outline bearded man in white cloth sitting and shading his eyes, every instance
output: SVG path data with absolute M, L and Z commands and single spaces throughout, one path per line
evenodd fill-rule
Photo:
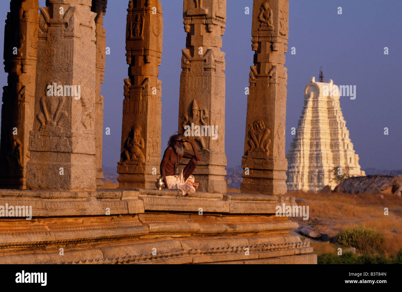
M 184 151 L 183 143 L 190 143 L 193 148 L 194 155 Z M 178 165 L 182 157 L 189 158 L 189 163 L 183 168 L 181 173 L 178 172 Z M 198 188 L 198 184 L 194 182 L 193 173 L 197 167 L 197 161 L 201 159 L 194 142 L 181 135 L 172 135 L 169 138 L 168 147 L 163 153 L 160 163 L 160 174 L 163 176 L 165 188 L 179 189 L 182 195 L 192 195 Z

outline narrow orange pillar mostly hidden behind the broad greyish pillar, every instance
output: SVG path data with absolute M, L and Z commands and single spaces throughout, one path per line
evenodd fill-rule
M 100 95 L 103 76 L 105 76 L 106 34 L 103 28 L 103 15 L 107 0 L 92 0 L 91 11 L 96 13 L 96 86 L 95 86 L 95 134 L 96 134 L 96 187 L 103 186 L 102 141 L 103 141 L 103 95 Z

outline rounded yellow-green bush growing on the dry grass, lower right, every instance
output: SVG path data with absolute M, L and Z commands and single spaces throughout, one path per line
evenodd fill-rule
M 374 228 L 353 226 L 341 231 L 335 237 L 335 242 L 344 247 L 356 247 L 363 253 L 375 253 L 382 251 L 383 235 Z

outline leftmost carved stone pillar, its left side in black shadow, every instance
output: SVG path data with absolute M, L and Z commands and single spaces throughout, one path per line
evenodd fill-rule
M 38 0 L 10 2 L 4 32 L 0 188 L 26 188 L 29 131 L 35 104 Z

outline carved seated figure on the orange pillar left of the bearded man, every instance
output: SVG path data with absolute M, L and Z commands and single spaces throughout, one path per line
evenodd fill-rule
M 122 161 L 144 162 L 145 157 L 141 149 L 144 149 L 144 139 L 141 137 L 141 126 L 134 125 L 124 142 L 124 149 L 121 153 Z

